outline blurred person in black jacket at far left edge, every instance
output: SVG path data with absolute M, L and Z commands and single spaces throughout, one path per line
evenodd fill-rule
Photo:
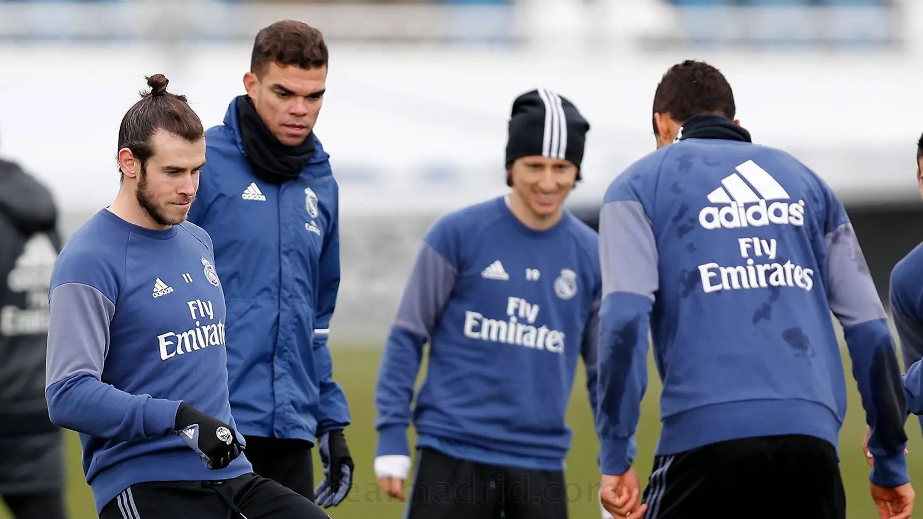
M 57 215 L 47 187 L 0 160 L 0 496 L 17 519 L 66 517 L 63 435 L 44 391 Z

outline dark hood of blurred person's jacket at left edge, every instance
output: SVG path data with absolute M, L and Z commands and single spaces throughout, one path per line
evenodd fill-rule
M 23 232 L 54 230 L 57 207 L 51 192 L 15 162 L 0 159 L 0 213 Z

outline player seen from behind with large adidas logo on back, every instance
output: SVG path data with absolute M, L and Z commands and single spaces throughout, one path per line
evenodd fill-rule
M 605 508 L 617 518 L 844 518 L 837 438 L 846 393 L 833 312 L 871 428 L 872 496 L 907 517 L 905 395 L 849 218 L 821 177 L 753 144 L 734 117 L 717 69 L 674 65 L 654 94 L 658 149 L 605 193 Z M 663 427 L 641 496 L 632 435 L 649 331 Z

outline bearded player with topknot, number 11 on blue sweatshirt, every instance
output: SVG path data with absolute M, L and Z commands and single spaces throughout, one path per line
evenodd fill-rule
M 119 128 L 118 195 L 54 265 L 49 415 L 80 433 L 102 519 L 329 518 L 241 453 L 224 346 L 234 317 L 208 233 L 185 221 L 202 124 L 166 77 L 148 85 Z

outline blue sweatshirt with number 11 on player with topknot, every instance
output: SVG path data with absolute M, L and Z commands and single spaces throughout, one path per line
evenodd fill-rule
M 97 513 L 135 483 L 252 470 L 243 454 L 210 470 L 173 434 L 181 401 L 236 430 L 224 297 L 204 230 L 146 229 L 102 209 L 66 242 L 49 305 L 48 412 L 80 433 Z

